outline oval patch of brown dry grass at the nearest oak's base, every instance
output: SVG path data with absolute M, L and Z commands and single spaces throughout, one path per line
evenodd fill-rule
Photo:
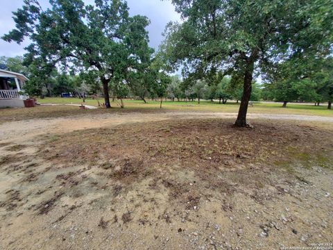
M 321 151 L 332 131 L 300 124 L 257 122 L 255 128 L 234 128 L 232 121 L 188 119 L 97 128 L 62 134 L 46 143 L 45 156 L 59 163 L 121 166 L 115 176 L 130 176 L 147 163 L 217 165 L 267 162 L 288 154 Z M 311 143 L 307 143 L 311 142 Z M 293 149 L 293 150 L 291 150 Z M 304 156 L 304 154 L 303 154 Z M 105 160 L 103 163 L 98 163 Z M 203 167 L 200 167 L 201 169 Z

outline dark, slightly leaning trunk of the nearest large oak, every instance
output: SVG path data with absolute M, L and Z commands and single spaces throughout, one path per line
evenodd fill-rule
M 252 92 L 254 65 L 255 61 L 253 60 L 253 58 L 248 58 L 246 69 L 244 72 L 243 96 L 241 97 L 241 105 L 239 106 L 236 122 L 234 122 L 235 126 L 248 126 L 248 123 L 246 122 L 246 114 L 248 113 L 248 101 L 250 101 L 250 95 Z

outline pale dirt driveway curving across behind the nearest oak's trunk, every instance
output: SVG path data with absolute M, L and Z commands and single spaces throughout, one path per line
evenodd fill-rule
M 232 118 L 236 113 L 194 113 L 194 112 L 167 112 L 167 113 L 114 113 L 99 115 L 80 115 L 65 118 L 31 119 L 0 124 L 0 140 L 5 142 L 26 141 L 31 136 L 46 133 L 68 133 L 79 129 L 101 128 L 105 126 L 118 126 L 121 124 L 137 122 L 157 122 L 172 119 L 193 118 Z M 305 115 L 271 115 L 250 114 L 248 119 L 293 120 L 307 122 L 333 123 L 333 117 L 318 117 Z

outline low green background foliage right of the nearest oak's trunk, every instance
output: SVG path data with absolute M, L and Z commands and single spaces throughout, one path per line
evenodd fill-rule
M 266 75 L 266 99 L 283 101 L 328 101 L 332 103 L 332 56 L 291 58 Z

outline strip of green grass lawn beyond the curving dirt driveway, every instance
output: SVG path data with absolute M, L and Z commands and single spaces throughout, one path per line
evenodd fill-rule
M 98 99 L 103 103 L 103 99 Z M 40 103 L 55 103 L 55 104 L 81 104 L 82 99 L 78 98 L 60 98 L 60 97 L 46 97 L 45 99 L 37 99 Z M 125 108 L 135 109 L 159 109 L 160 101 L 150 101 L 147 103 L 137 100 L 125 100 Z M 98 106 L 97 99 L 86 99 L 85 105 Z M 119 102 L 111 102 L 113 108 L 119 108 Z M 219 104 L 219 102 L 200 101 L 163 101 L 162 108 L 167 110 L 177 111 L 200 111 L 200 112 L 223 112 L 223 113 L 237 113 L 239 103 L 229 102 L 226 104 Z M 333 117 L 333 110 L 327 110 L 327 106 L 314 106 L 314 104 L 299 104 L 288 103 L 287 108 L 282 108 L 282 103 L 254 103 L 253 107 L 248 108 L 248 113 L 267 113 L 267 114 L 280 114 L 280 115 L 320 115 Z

